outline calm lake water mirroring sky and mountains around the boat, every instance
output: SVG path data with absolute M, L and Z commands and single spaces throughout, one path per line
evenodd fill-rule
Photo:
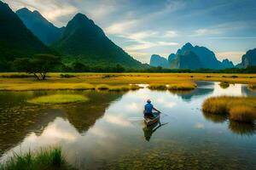
M 47 94 L 84 94 L 72 105 L 32 105 Z M 186 94 L 142 88 L 127 93 L 0 92 L 0 156 L 61 145 L 80 169 L 256 169 L 256 127 L 201 112 L 210 96 L 256 95 L 245 85 L 198 82 Z M 143 105 L 163 112 L 145 127 Z

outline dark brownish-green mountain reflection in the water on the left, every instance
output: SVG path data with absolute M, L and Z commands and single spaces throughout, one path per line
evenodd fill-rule
M 49 106 L 26 103 L 27 99 L 52 93 L 54 92 L 2 92 L 0 94 L 0 155 L 19 144 L 29 133 L 39 136 L 56 117 L 67 118 L 79 133 L 82 133 L 104 114 L 112 101 L 123 95 L 122 93 L 85 92 L 85 95 L 90 97 L 90 101 L 78 105 Z

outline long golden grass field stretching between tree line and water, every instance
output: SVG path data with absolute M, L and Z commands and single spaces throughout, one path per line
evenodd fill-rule
M 68 73 L 74 77 L 62 78 L 62 73 L 49 73 L 46 81 L 33 77 L 15 78 L 25 73 L 0 73 L 0 90 L 83 90 L 97 85 L 125 86 L 129 84 L 190 84 L 194 81 L 245 83 L 255 87 L 256 74 L 206 73 Z

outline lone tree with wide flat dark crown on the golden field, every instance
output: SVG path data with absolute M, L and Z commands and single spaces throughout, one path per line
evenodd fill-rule
M 46 74 L 61 65 L 61 58 L 51 54 L 38 54 L 31 59 L 15 59 L 14 67 L 17 71 L 33 74 L 38 80 L 45 80 Z

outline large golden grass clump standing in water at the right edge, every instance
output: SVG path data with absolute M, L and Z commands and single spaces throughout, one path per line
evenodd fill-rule
M 256 120 L 256 97 L 212 97 L 204 101 L 202 111 L 210 114 L 228 114 L 237 122 Z

